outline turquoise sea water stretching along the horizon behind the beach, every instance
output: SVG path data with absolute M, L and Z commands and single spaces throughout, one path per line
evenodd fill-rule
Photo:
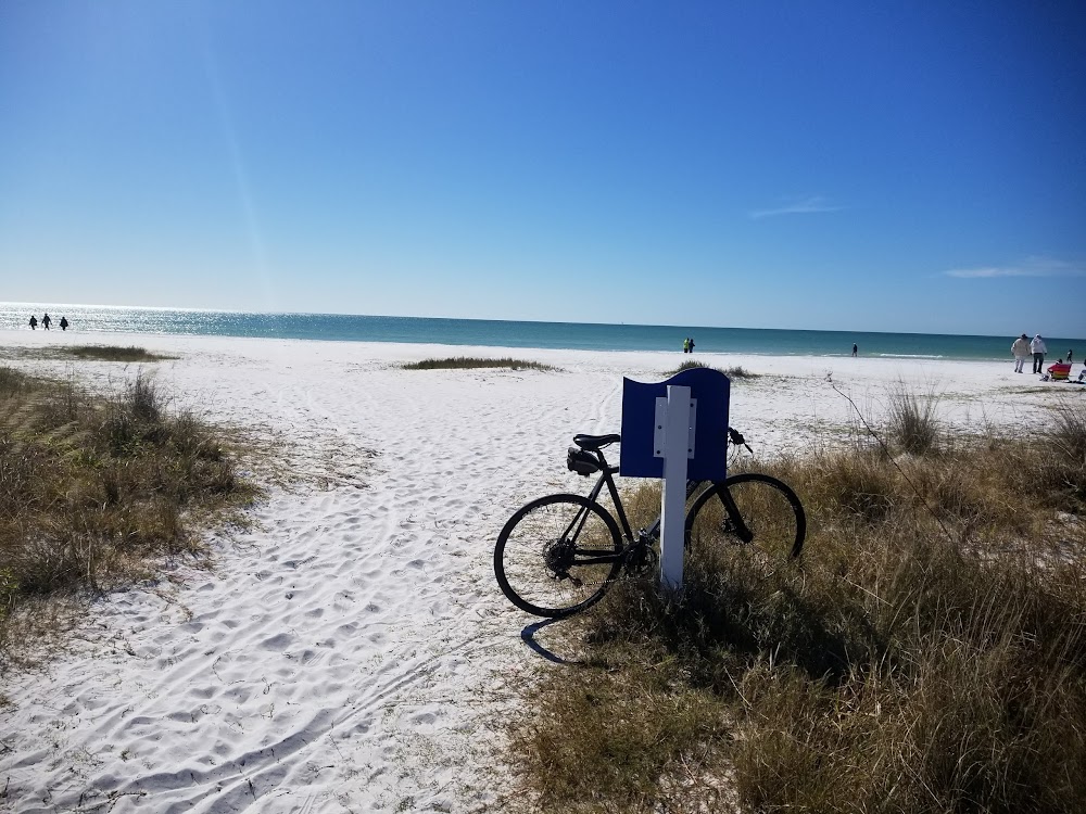
M 48 311 L 53 331 L 67 317 L 70 333 L 179 333 L 346 342 L 408 342 L 492 347 L 548 347 L 585 351 L 677 351 L 693 336 L 695 353 L 771 356 L 848 356 L 853 343 L 861 356 L 936 359 L 1010 358 L 1013 336 L 959 336 L 931 333 L 860 331 L 785 331 L 697 326 L 512 322 L 488 319 L 430 319 L 339 314 L 248 314 L 238 311 L 127 308 L 115 306 L 0 303 L 0 329 L 29 330 L 31 314 Z M 38 330 L 41 330 L 39 327 Z M 1046 338 L 1049 356 L 1075 348 L 1086 357 L 1086 340 Z

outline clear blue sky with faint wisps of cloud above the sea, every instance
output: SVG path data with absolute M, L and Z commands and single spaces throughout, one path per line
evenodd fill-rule
M 1086 4 L 3 0 L 0 300 L 1086 334 Z

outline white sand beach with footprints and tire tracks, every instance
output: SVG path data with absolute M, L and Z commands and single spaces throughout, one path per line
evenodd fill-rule
M 0 332 L 0 347 L 137 344 L 181 407 L 277 440 L 300 479 L 270 486 L 210 568 L 97 601 L 72 647 L 8 675 L 0 798 L 29 812 L 502 811 L 501 715 L 550 663 L 491 565 L 527 499 L 586 489 L 577 432 L 617 432 L 622 377 L 679 353 L 597 353 L 215 336 Z M 407 371 L 427 357 L 513 356 L 555 372 Z M 880 422 L 904 383 L 968 431 L 1032 432 L 1086 387 L 1002 363 L 696 354 L 754 379 L 731 423 L 760 455 L 805 454 Z M 116 387 L 137 366 L 0 358 Z M 1075 366 L 1074 376 L 1078 373 Z M 828 378 L 832 378 L 832 385 Z

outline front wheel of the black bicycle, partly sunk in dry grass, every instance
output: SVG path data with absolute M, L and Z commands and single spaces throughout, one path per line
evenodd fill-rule
M 721 493 L 727 491 L 753 533 L 745 543 Z M 795 559 L 807 538 L 807 512 L 799 497 L 783 481 L 760 472 L 732 475 L 698 495 L 686 514 L 686 545 L 721 539 L 730 545 L 752 545 L 772 559 Z

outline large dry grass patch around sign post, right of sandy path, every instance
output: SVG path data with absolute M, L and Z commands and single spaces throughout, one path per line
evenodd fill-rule
M 1041 437 L 759 469 L 799 560 L 691 543 L 684 587 L 623 578 L 550 631 L 510 724 L 542 811 L 1075 812 L 1086 772 L 1086 406 Z M 649 495 L 645 507 L 655 503 Z

